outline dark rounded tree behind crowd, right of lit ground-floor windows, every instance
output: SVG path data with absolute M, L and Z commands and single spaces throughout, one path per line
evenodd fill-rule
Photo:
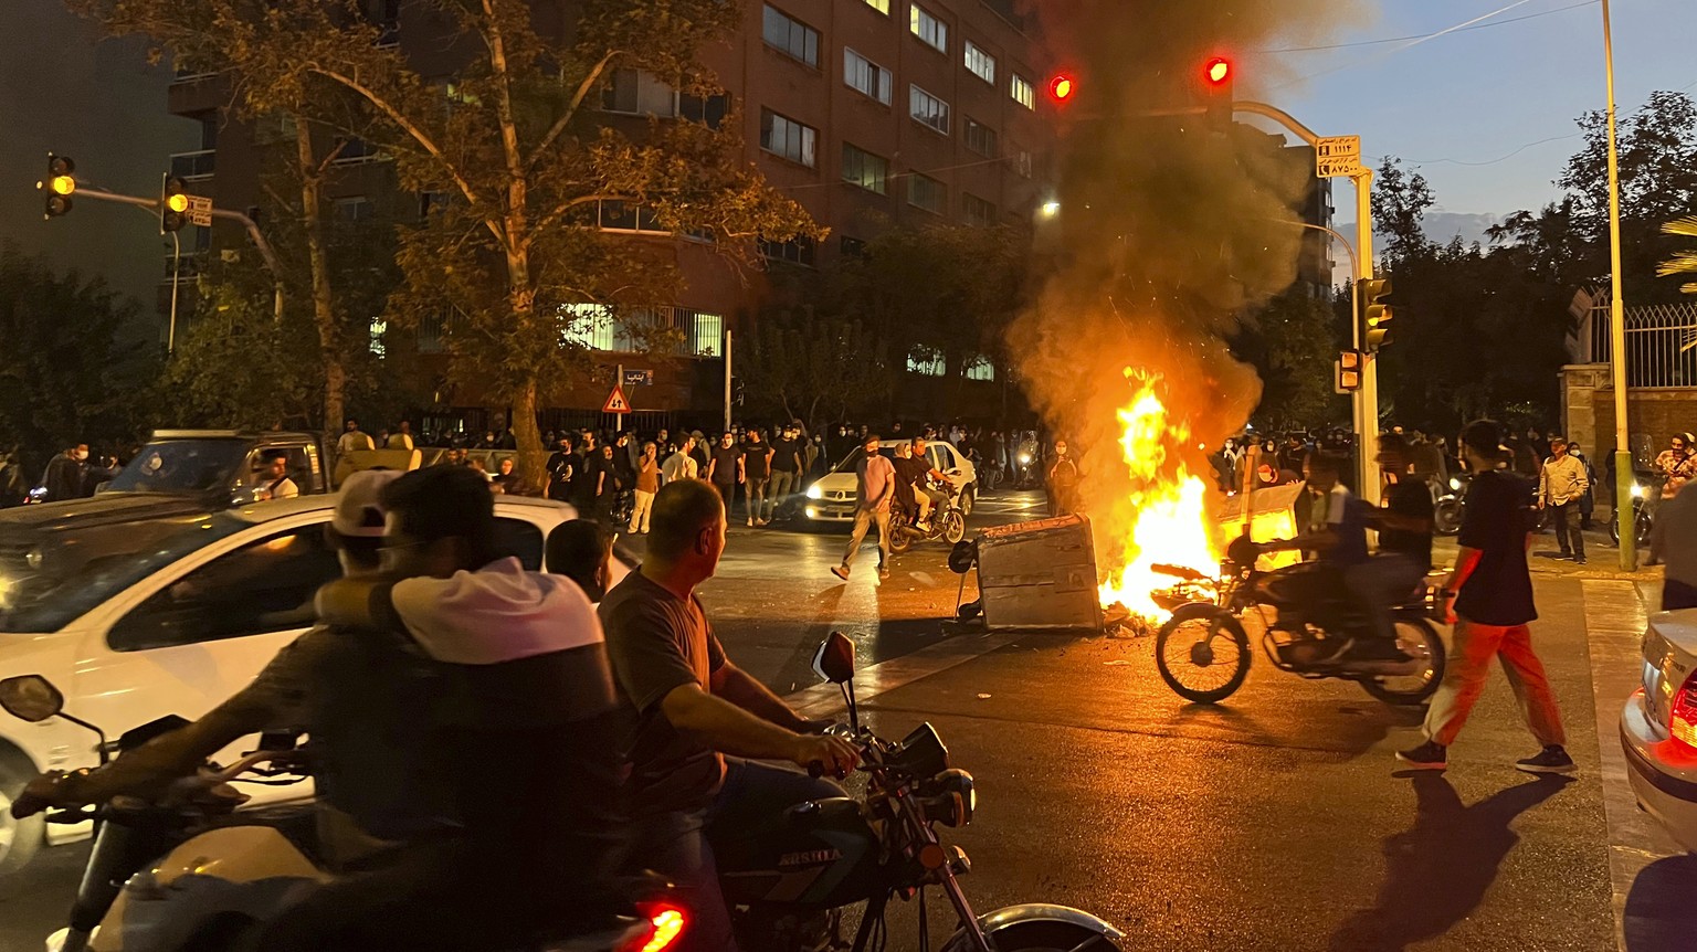
M 782 411 L 784 419 L 821 431 L 889 392 L 884 350 L 860 321 L 767 314 L 736 341 L 735 365 L 755 409 Z

